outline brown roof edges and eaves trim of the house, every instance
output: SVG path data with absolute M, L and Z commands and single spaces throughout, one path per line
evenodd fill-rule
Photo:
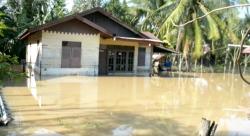
M 139 35 L 141 38 L 116 36 L 116 34 L 113 34 L 112 32 L 108 31 L 107 29 L 101 27 L 100 25 L 97 25 L 96 23 L 94 23 L 94 22 L 92 22 L 84 17 L 86 15 L 89 15 L 89 14 L 92 14 L 95 12 L 101 13 L 102 15 L 108 17 L 109 19 L 113 20 L 114 22 L 121 25 L 122 27 L 130 30 L 131 32 L 135 33 L 136 35 Z M 109 37 L 109 38 L 116 37 L 117 39 L 120 39 L 120 40 L 139 41 L 139 42 L 155 43 L 155 44 L 162 44 L 163 43 L 161 40 L 159 40 L 157 37 L 155 37 L 152 33 L 150 33 L 150 32 L 143 32 L 143 33 L 137 32 L 133 28 L 129 27 L 128 25 L 126 25 L 125 23 L 120 21 L 119 19 L 115 18 L 111 13 L 109 13 L 109 12 L 105 11 L 104 9 L 99 8 L 99 7 L 92 8 L 90 10 L 86 10 L 82 13 L 77 13 L 77 14 L 73 14 L 70 16 L 66 16 L 66 17 L 63 17 L 61 19 L 54 20 L 54 21 L 48 22 L 46 24 L 37 26 L 35 28 L 28 29 L 19 35 L 19 39 L 25 39 L 30 34 L 33 34 L 35 32 L 38 32 L 38 31 L 41 31 L 44 29 L 48 29 L 52 26 L 55 26 L 55 25 L 58 25 L 60 23 L 64 23 L 64 22 L 67 22 L 67 21 L 70 21 L 73 19 L 77 19 L 77 20 L 81 21 L 82 23 L 87 24 L 88 26 L 98 30 L 101 33 L 101 35 L 103 35 L 105 37 Z

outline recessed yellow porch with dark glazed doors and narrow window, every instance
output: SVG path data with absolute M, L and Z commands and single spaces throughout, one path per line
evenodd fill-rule
M 99 75 L 149 75 L 152 46 L 123 39 L 101 39 Z

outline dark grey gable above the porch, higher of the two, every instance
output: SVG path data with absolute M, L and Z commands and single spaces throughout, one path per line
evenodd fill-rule
M 111 15 L 109 15 L 111 16 Z M 87 18 L 91 22 L 105 28 L 109 32 L 116 34 L 116 36 L 120 37 L 134 37 L 134 38 L 142 38 L 139 34 L 129 30 L 128 28 L 122 26 L 111 18 L 107 17 L 103 13 L 99 11 L 83 15 L 84 18 Z

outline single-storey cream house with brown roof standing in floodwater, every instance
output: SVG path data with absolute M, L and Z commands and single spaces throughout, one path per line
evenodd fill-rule
M 40 75 L 148 75 L 163 42 L 93 8 L 21 34 L 26 62 Z

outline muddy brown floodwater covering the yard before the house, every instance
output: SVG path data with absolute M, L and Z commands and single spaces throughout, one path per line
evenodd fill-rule
M 67 76 L 28 86 L 2 90 L 14 120 L 1 136 L 190 136 L 202 117 L 218 123 L 217 135 L 250 135 L 250 88 L 238 75 Z

